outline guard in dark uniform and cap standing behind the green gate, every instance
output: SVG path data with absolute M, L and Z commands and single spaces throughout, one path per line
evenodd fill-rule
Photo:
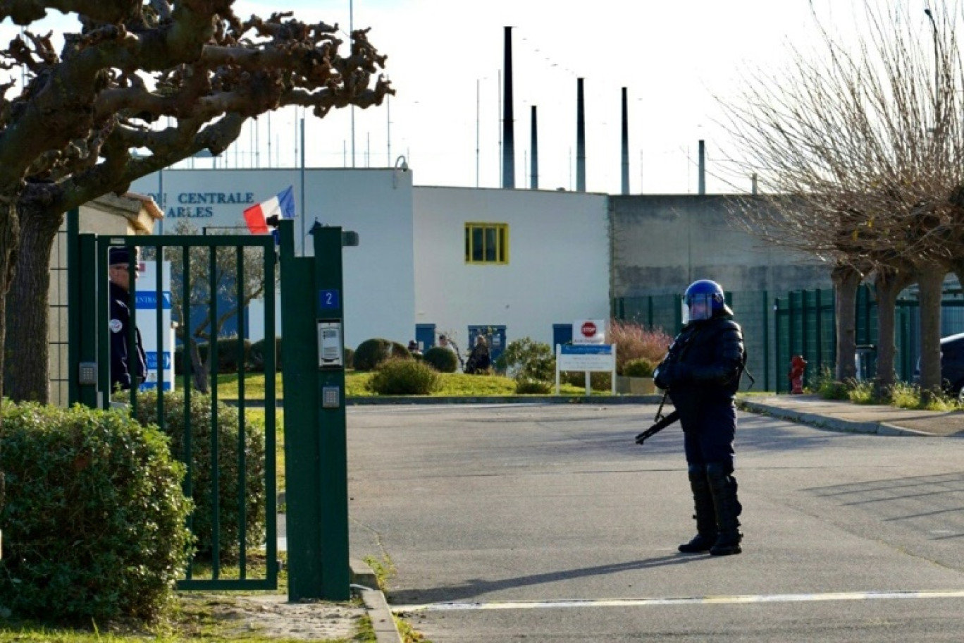
M 147 360 L 141 344 L 141 331 L 134 329 L 137 355 L 127 355 L 127 329 L 130 324 L 128 308 L 130 263 L 137 261 L 137 254 L 130 248 L 111 248 L 108 253 L 109 297 L 111 301 L 111 390 L 140 386 L 147 374 Z M 137 265 L 135 263 L 135 275 Z

